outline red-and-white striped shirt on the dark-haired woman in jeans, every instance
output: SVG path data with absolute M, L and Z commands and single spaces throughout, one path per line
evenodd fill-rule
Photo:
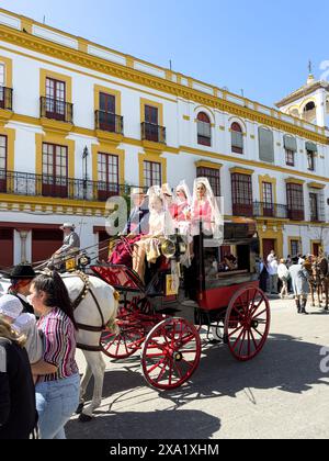
M 38 321 L 37 327 L 44 334 L 44 361 L 58 368 L 56 373 L 39 376 L 37 382 L 59 381 L 77 374 L 76 330 L 70 318 L 56 307 Z

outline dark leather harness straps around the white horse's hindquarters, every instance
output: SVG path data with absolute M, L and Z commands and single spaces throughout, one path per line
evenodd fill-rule
M 78 271 L 75 272 L 75 276 L 79 277 L 79 279 L 82 281 L 83 283 L 83 288 L 81 290 L 81 293 L 79 294 L 79 296 L 77 297 L 77 300 L 72 303 L 72 307 L 73 311 L 76 311 L 79 305 L 82 303 L 82 301 L 86 299 L 86 296 L 88 295 L 88 293 L 92 296 L 97 308 L 99 311 L 101 321 L 102 321 L 102 326 L 100 327 L 93 327 L 90 325 L 83 325 L 83 324 L 77 324 L 77 327 L 79 329 L 81 329 L 82 331 L 90 331 L 90 333 L 102 333 L 104 331 L 104 329 L 106 328 L 106 324 L 104 321 L 104 316 L 100 306 L 100 303 L 98 302 L 97 296 L 94 295 L 93 291 L 90 288 L 90 282 L 89 282 L 89 277 L 86 276 L 86 273 Z M 81 350 L 86 350 L 88 352 L 100 352 L 102 350 L 101 346 L 87 346 L 87 345 L 81 345 L 81 344 L 77 344 L 77 348 L 81 349 Z

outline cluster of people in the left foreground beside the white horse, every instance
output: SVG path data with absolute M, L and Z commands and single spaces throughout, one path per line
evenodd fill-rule
M 9 274 L 0 297 L 0 439 L 65 439 L 79 405 L 77 325 L 57 272 Z

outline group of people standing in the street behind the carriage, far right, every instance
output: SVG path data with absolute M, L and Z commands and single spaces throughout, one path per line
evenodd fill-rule
M 265 293 L 279 294 L 283 300 L 294 295 L 298 314 L 306 314 L 309 281 L 314 263 L 311 255 L 280 259 L 272 250 L 266 260 L 260 260 L 260 288 Z

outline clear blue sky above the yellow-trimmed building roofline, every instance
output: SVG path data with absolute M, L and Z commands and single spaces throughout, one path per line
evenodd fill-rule
M 306 0 L 1 0 L 31 16 L 268 105 L 329 60 L 329 3 Z M 314 5 L 314 8 L 313 8 Z

